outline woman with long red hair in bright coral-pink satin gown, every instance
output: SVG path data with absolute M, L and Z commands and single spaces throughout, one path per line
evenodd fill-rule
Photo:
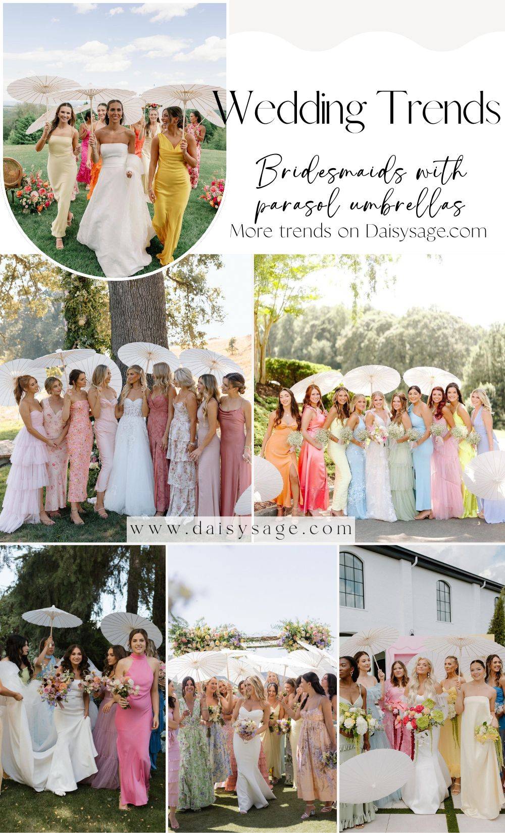
M 330 504 L 324 449 L 318 446 L 313 436 L 317 428 L 323 427 L 326 416 L 321 391 L 317 385 L 309 385 L 303 400 L 301 431 L 304 441 L 298 457 L 300 508 L 306 515 L 319 515 Z

